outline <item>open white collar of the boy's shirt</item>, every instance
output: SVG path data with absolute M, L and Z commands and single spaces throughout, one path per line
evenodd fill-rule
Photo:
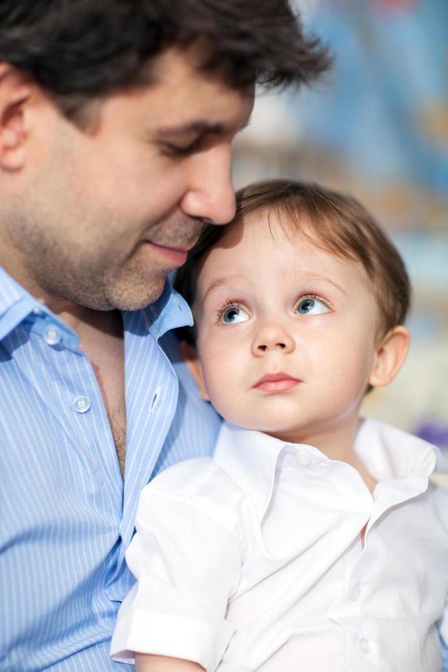
M 279 455 L 286 450 L 298 453 L 304 447 L 311 461 L 328 459 L 313 446 L 288 444 L 224 422 L 214 461 L 249 494 L 262 520 L 271 501 Z M 448 462 L 436 446 L 378 420 L 360 420 L 355 451 L 378 481 L 427 478 L 434 471 L 448 471 Z

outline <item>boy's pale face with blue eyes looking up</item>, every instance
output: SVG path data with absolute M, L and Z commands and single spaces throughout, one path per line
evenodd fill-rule
M 356 422 L 377 382 L 380 315 L 364 267 L 272 213 L 232 224 L 208 252 L 193 311 L 205 394 L 241 427 L 316 444 Z

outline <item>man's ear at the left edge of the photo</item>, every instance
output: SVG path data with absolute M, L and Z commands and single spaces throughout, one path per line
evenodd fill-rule
M 25 73 L 0 63 L 0 169 L 20 170 L 25 162 L 27 123 L 24 108 L 32 93 Z

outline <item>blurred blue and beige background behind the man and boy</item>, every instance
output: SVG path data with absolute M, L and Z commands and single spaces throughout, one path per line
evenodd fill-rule
M 386 228 L 412 282 L 412 344 L 362 410 L 448 453 L 448 2 L 295 4 L 334 67 L 312 91 L 257 96 L 234 184 L 316 180 L 358 197 Z

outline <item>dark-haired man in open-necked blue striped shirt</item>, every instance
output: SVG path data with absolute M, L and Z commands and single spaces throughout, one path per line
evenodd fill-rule
M 1 3 L 1 669 L 119 669 L 138 493 L 218 422 L 166 276 L 234 214 L 253 85 L 327 61 L 286 0 Z

